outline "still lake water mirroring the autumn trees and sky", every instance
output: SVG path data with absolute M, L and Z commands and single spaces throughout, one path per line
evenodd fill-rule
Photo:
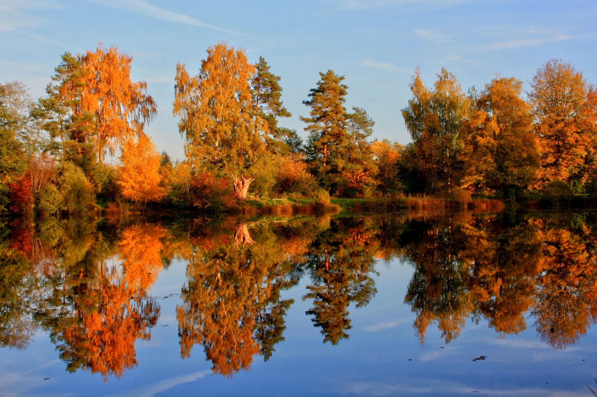
M 0 230 L 1 396 L 597 390 L 593 212 Z

